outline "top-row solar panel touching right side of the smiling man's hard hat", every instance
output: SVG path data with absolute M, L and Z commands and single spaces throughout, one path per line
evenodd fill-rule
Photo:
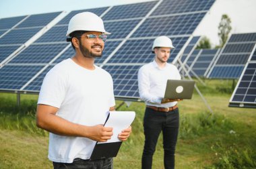
M 158 1 L 146 3 L 134 3 L 129 5 L 115 6 L 106 15 L 103 20 L 126 19 L 135 17 L 145 17 L 147 13 L 156 5 Z

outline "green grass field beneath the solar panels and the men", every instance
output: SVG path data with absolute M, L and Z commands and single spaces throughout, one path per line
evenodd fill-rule
M 176 168 L 256 168 L 256 111 L 231 108 L 230 80 L 205 80 L 201 97 L 181 101 Z M 48 135 L 35 125 L 37 95 L 22 95 L 21 107 L 15 107 L 15 95 L 0 93 L 0 168 L 52 168 L 47 159 Z M 117 101 L 117 105 L 121 101 Z M 141 168 L 143 150 L 144 103 L 123 105 L 120 111 L 135 111 L 133 133 L 124 142 L 114 168 Z M 154 154 L 153 168 L 163 167 L 162 135 Z

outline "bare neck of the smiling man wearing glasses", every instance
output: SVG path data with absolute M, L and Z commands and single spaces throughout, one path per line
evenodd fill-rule
M 72 60 L 78 64 L 79 66 L 82 66 L 83 68 L 86 68 L 88 70 L 94 70 L 94 58 L 86 58 L 84 56 L 77 56 L 75 55 Z

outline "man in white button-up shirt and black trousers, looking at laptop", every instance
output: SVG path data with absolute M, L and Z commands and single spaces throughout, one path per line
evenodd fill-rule
M 141 168 L 152 168 L 152 158 L 160 132 L 164 139 L 164 168 L 174 168 L 174 152 L 179 132 L 179 99 L 164 99 L 168 79 L 181 79 L 179 70 L 168 64 L 172 50 L 172 41 L 166 36 L 154 40 L 152 52 L 153 62 L 142 66 L 138 72 L 139 97 L 146 102 L 143 119 L 145 144 Z

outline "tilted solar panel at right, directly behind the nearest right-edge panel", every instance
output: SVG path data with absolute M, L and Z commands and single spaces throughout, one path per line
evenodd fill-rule
M 253 51 L 256 33 L 232 34 L 207 78 L 238 78 Z

